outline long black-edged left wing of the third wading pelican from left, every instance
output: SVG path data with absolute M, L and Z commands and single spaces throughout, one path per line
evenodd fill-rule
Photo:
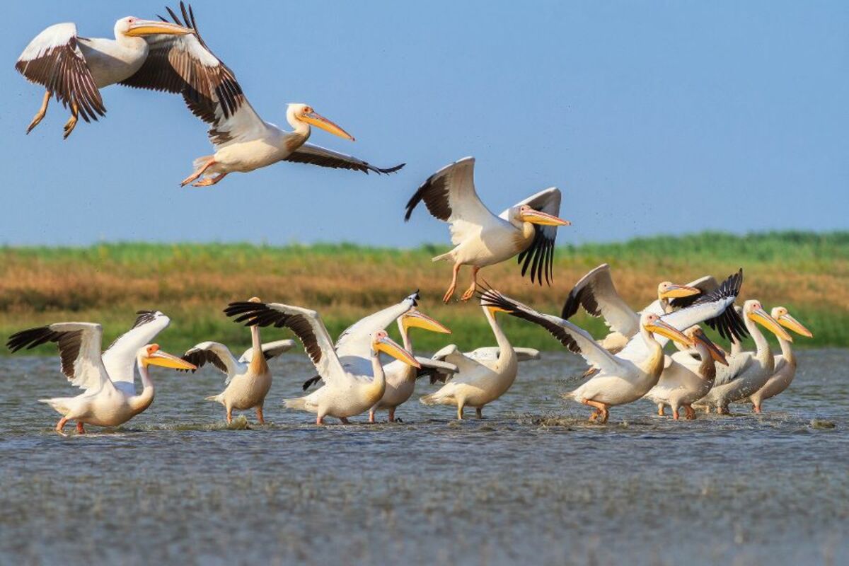
M 289 328 L 301 340 L 306 355 L 310 356 L 318 375 L 327 384 L 346 373 L 336 356 L 333 340 L 316 311 L 282 303 L 243 301 L 230 303 L 224 313 L 234 317 L 235 322 L 245 322 L 245 326 Z

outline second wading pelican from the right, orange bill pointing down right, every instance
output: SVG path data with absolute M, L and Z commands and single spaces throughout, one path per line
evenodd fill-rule
M 717 368 L 717 378 L 713 387 L 698 403 L 705 406 L 706 412 L 711 406 L 717 407 L 717 413 L 728 414 L 728 404 L 742 401 L 767 383 L 773 375 L 775 361 L 773 351 L 763 333 L 757 328 L 760 324 L 780 339 L 792 341 L 790 334 L 763 310 L 760 301 L 747 300 L 743 303 L 743 321 L 745 328 L 755 340 L 756 351 L 740 351 L 728 357 L 728 367 Z M 693 363 L 696 363 L 693 361 Z

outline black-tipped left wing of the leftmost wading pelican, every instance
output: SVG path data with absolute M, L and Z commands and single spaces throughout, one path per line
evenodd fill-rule
M 30 328 L 12 334 L 6 345 L 9 350 L 16 352 L 24 347 L 29 350 L 48 342 L 59 346 L 62 373 L 65 373 L 71 385 L 86 390 L 112 387 L 100 357 L 103 328 L 99 324 L 57 322 L 50 326 Z

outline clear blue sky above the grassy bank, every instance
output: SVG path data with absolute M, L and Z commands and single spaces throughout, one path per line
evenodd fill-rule
M 235 8 L 234 8 L 235 6 Z M 318 143 L 378 177 L 281 163 L 179 188 L 211 154 L 176 95 L 107 87 L 67 141 L 14 60 L 48 25 L 112 37 L 163 0 L 9 3 L 0 46 L 0 244 L 447 243 L 404 205 L 466 155 L 498 213 L 563 192 L 560 243 L 702 230 L 849 227 L 849 3 L 197 0 L 201 35 L 285 125 L 311 104 L 357 137 Z

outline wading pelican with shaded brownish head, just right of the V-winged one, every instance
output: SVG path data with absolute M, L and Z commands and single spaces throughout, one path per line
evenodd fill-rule
M 689 338 L 694 346 L 695 353 L 700 357 L 699 367 L 689 364 L 693 356 L 691 351 L 680 351 L 666 356 L 661 378 L 657 384 L 645 394 L 646 399 L 657 404 L 657 414 L 663 416 L 664 407 L 672 407 L 672 418 L 678 420 L 678 409 L 684 408 L 685 417 L 690 420 L 695 418 L 693 403 L 707 395 L 713 386 L 713 380 L 717 377 L 717 362 L 727 366 L 725 352 L 711 342 L 701 328 L 694 326 L 687 328 L 684 335 Z M 679 362 L 682 359 L 687 365 Z

